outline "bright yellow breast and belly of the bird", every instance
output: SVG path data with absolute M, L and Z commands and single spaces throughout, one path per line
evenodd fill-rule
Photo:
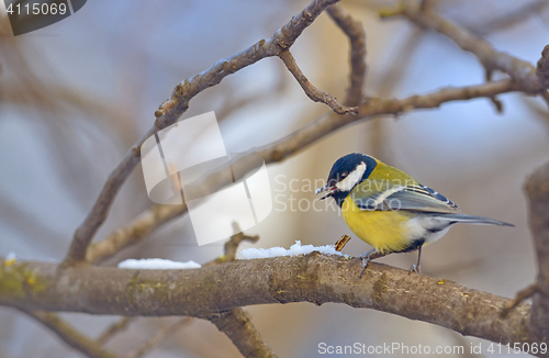
M 341 205 L 341 213 L 355 235 L 378 251 L 399 253 L 412 244 L 405 225 L 410 216 L 405 212 L 363 211 L 348 195 Z

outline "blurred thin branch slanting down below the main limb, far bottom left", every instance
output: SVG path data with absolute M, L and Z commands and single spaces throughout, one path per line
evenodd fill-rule
M 33 312 L 26 310 L 21 311 L 48 327 L 67 345 L 90 358 L 116 358 L 114 354 L 104 350 L 101 348 L 101 345 L 83 336 L 78 332 L 78 329 L 53 313 L 41 311 Z

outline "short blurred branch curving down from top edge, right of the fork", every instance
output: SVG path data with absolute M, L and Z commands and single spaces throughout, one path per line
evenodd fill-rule
M 362 87 L 366 81 L 366 32 L 362 23 L 351 18 L 336 3 L 327 10 L 328 15 L 345 32 L 350 42 L 350 85 L 347 90 L 346 105 L 359 105 L 362 101 Z

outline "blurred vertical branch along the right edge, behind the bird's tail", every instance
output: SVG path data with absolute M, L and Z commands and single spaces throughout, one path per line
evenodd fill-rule
M 529 200 L 528 220 L 538 259 L 531 333 L 538 342 L 549 343 L 549 163 L 529 177 L 525 189 Z

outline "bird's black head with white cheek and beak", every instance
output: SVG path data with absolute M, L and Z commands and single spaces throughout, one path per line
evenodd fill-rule
M 334 163 L 326 186 L 316 189 L 315 193 L 324 192 L 321 200 L 333 197 L 341 205 L 352 188 L 370 176 L 376 164 L 374 158 L 365 154 L 348 154 Z

